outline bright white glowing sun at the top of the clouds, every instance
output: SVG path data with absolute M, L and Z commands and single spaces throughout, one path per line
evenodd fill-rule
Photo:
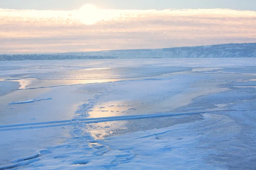
M 104 18 L 102 10 L 93 4 L 85 4 L 79 9 L 79 20 L 86 25 L 93 25 Z

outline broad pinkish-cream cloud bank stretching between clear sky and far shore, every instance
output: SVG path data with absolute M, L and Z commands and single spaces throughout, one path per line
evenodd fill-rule
M 0 9 L 0 53 L 256 42 L 256 11 L 86 9 Z

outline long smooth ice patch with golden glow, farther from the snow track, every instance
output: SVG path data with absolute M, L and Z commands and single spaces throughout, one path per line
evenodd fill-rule
M 128 79 L 154 77 L 180 71 L 189 71 L 185 67 L 134 67 L 134 68 L 89 68 L 75 71 L 31 74 L 29 78 L 41 80 L 90 80 L 90 79 Z

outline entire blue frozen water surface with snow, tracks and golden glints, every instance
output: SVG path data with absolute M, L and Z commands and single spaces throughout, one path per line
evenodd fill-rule
M 256 58 L 0 62 L 0 170 L 255 170 Z

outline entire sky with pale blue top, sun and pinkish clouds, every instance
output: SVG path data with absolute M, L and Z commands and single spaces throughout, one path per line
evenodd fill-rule
M 256 42 L 256 0 L 0 0 L 0 54 Z

